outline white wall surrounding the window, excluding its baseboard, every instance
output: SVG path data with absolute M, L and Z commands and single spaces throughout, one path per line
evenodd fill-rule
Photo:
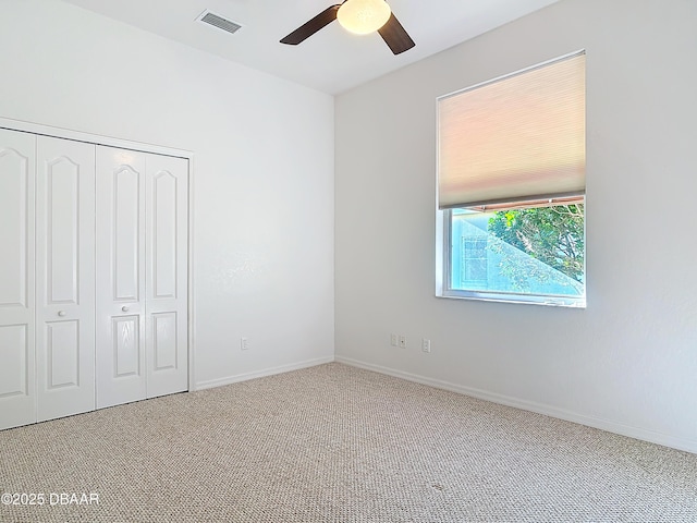
M 339 96 L 338 358 L 697 452 L 696 26 L 563 0 Z M 435 297 L 436 97 L 578 49 L 588 308 Z

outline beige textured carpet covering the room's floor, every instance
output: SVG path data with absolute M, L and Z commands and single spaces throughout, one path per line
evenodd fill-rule
M 697 522 L 696 454 L 341 364 L 0 431 L 0 452 L 2 494 L 45 495 L 3 523 Z

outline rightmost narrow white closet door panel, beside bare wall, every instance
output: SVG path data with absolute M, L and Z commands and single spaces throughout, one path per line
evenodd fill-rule
M 147 155 L 147 396 L 188 390 L 188 161 Z

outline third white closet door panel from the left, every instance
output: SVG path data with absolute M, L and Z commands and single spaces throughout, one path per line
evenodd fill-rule
M 97 147 L 97 408 L 146 398 L 143 153 Z

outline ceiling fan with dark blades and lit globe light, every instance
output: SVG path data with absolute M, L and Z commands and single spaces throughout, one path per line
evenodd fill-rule
M 384 0 L 344 0 L 331 5 L 283 38 L 281 44 L 297 46 L 334 20 L 357 35 L 377 31 L 394 54 L 416 45 Z

